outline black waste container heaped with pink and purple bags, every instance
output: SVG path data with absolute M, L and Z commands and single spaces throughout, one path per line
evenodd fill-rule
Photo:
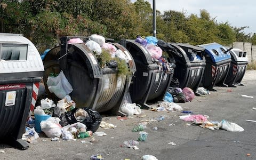
M 170 72 L 166 72 L 142 44 L 131 39 L 121 39 L 121 44 L 131 53 L 136 66 L 130 85 L 132 102 L 150 108 L 147 102 L 163 100 L 173 76 L 174 62 L 169 63 Z

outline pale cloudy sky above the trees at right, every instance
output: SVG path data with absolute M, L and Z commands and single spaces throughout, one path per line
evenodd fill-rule
M 136 0 L 131 0 L 135 2 Z M 146 0 L 153 8 L 153 0 Z M 245 34 L 256 33 L 255 10 L 256 1 L 247 0 L 155 0 L 156 10 L 162 14 L 164 11 L 174 10 L 185 12 L 185 15 L 200 15 L 200 10 L 206 10 L 211 18 L 215 18 L 218 23 L 228 22 L 232 27 L 244 27 Z

